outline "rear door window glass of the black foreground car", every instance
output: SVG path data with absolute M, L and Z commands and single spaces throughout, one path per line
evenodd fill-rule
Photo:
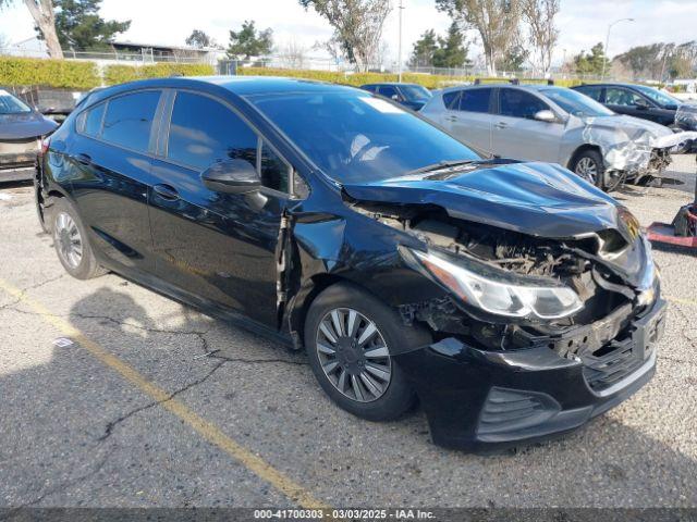
M 159 100 L 160 92 L 156 90 L 110 99 L 101 138 L 121 147 L 147 151 Z

